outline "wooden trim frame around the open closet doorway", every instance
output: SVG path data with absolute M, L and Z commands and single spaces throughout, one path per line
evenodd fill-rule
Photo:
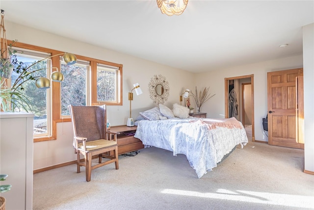
M 228 77 L 225 78 L 225 118 L 229 118 L 229 80 L 238 80 L 251 78 L 251 103 L 252 103 L 252 142 L 255 142 L 255 123 L 254 123 L 254 74 L 238 76 L 238 77 Z M 244 125 L 243 125 L 244 126 Z

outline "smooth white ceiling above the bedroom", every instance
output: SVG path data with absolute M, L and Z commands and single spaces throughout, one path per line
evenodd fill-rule
M 167 16 L 156 0 L 0 0 L 5 21 L 191 72 L 302 54 L 314 0 L 189 0 Z M 288 44 L 280 48 L 281 44 Z

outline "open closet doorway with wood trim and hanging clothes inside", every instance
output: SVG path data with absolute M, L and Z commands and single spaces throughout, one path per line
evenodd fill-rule
M 225 118 L 231 117 L 246 126 L 249 140 L 255 142 L 253 74 L 225 78 Z

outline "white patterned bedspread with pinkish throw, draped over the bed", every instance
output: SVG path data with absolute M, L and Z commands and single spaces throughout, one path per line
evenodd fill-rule
M 185 154 L 198 178 L 216 167 L 235 146 L 248 142 L 242 123 L 235 118 L 141 120 L 134 137 L 145 147 Z

